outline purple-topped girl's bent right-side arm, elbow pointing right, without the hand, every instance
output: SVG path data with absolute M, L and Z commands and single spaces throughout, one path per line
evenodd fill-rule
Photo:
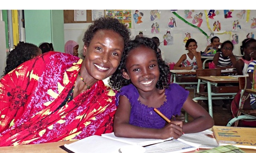
M 190 96 L 183 104 L 183 109 L 194 119 L 183 125 L 185 134 L 204 131 L 214 125 L 214 120 L 209 113 L 198 103 L 195 103 Z

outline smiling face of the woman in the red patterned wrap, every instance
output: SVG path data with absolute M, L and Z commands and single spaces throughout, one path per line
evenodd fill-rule
M 85 71 L 89 77 L 102 80 L 112 75 L 124 52 L 124 39 L 113 30 L 98 30 L 88 46 L 83 47 Z M 82 68 L 81 68 L 82 69 Z

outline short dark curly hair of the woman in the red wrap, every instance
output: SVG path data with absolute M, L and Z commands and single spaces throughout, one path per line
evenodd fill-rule
M 98 30 L 113 30 L 116 33 L 119 33 L 124 39 L 124 44 L 130 39 L 130 30 L 126 26 L 119 22 L 118 19 L 105 17 L 97 19 L 93 24 L 91 24 L 83 35 L 83 43 L 86 46 L 89 46 L 93 36 Z

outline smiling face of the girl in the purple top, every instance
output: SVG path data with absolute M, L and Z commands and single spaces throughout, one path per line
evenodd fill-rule
M 139 93 L 156 89 L 160 72 L 155 50 L 145 46 L 132 49 L 127 55 L 126 70 L 123 77 L 131 79 Z

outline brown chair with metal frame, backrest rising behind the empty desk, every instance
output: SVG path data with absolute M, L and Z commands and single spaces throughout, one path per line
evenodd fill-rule
M 196 78 L 198 77 L 210 77 L 210 76 L 221 76 L 221 70 L 220 69 L 196 69 Z M 197 100 L 208 100 L 208 92 L 200 92 L 200 84 L 205 84 L 201 82 L 201 79 L 198 79 L 198 85 L 196 88 L 196 97 L 193 98 L 194 101 Z M 233 89 L 233 88 L 231 88 Z M 225 95 L 224 93 L 228 93 L 230 90 L 229 86 L 212 86 L 212 91 L 216 91 L 216 93 L 220 93 L 219 95 L 212 95 L 211 99 L 233 99 L 233 96 Z M 233 93 L 233 90 L 230 92 Z M 237 92 L 237 91 L 236 91 Z M 211 108 L 211 105 L 209 105 L 209 108 Z M 185 122 L 188 122 L 188 114 L 185 112 Z

